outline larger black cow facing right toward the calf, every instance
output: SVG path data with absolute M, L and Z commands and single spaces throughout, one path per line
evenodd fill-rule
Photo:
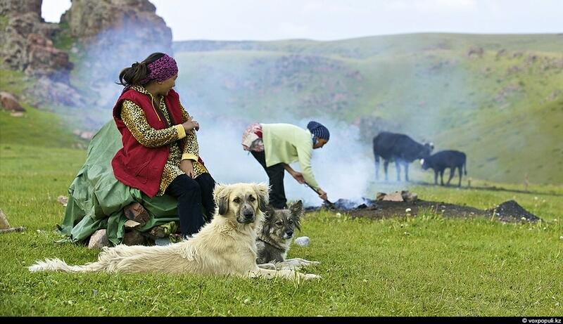
M 390 161 L 395 161 L 397 181 L 400 181 L 400 164 L 405 166 L 405 181 L 409 181 L 409 164 L 417 159 L 428 157 L 434 145 L 420 144 L 405 134 L 382 131 L 374 137 L 375 179 L 379 180 L 379 157 L 384 160 L 385 181 Z

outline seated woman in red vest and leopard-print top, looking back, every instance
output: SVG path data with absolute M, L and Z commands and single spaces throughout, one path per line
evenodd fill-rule
M 176 197 L 180 231 L 186 237 L 213 215 L 215 181 L 198 156 L 199 124 L 172 89 L 177 77 L 176 61 L 164 53 L 153 53 L 121 71 L 125 89 L 113 118 L 123 148 L 111 165 L 116 179 L 149 197 Z

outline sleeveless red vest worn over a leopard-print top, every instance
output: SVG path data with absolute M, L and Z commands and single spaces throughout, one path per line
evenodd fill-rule
M 143 108 L 146 120 L 151 127 L 154 129 L 165 129 L 176 124 L 182 124 L 179 96 L 176 91 L 170 90 L 168 95 L 164 97 L 166 107 L 168 112 L 170 112 L 172 125 L 167 125 L 163 115 L 157 115 L 153 105 L 151 105 L 151 96 L 133 89 L 123 91 L 118 102 L 113 107 L 113 119 L 115 124 L 118 125 L 123 142 L 123 148 L 118 150 L 118 153 L 115 154 L 111 161 L 113 174 L 116 179 L 127 186 L 137 188 L 149 197 L 154 197 L 160 188 L 160 180 L 162 179 L 164 165 L 170 154 L 170 148 L 168 145 L 158 148 L 147 148 L 134 138 L 131 131 L 127 129 L 125 123 L 121 120 L 121 105 L 124 100 L 132 101 Z M 155 108 L 158 110 L 157 106 Z M 183 148 L 184 145 L 180 145 L 180 147 Z

